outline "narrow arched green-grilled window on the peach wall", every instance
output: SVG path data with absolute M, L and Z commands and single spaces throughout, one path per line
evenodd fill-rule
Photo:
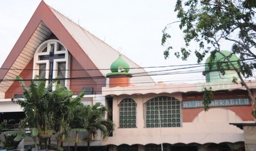
M 132 98 L 124 98 L 119 104 L 119 127 L 136 127 L 136 106 Z

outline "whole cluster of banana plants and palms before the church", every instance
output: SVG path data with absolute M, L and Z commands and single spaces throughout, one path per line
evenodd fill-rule
M 77 149 L 78 132 L 87 131 L 90 150 L 90 141 L 97 138 L 99 131 L 104 139 L 113 131 L 113 121 L 105 118 L 105 114 L 111 113 L 110 109 L 101 103 L 95 103 L 93 106 L 82 104 L 80 100 L 84 96 L 84 91 L 72 98 L 73 92 L 61 85 L 55 85 L 54 80 L 46 86 L 46 81 L 36 76 L 31 80 L 29 87 L 21 77 L 18 76 L 17 80 L 24 90 L 24 98 L 12 101 L 23 108 L 26 117 L 19 123 L 20 130 L 5 132 L 7 135 L 15 136 L 14 141 L 31 137 L 35 148 L 39 141 L 41 149 L 63 150 L 61 147 L 64 138 L 68 138 L 70 132 L 75 131 Z M 51 137 L 55 134 L 57 144 L 51 144 Z

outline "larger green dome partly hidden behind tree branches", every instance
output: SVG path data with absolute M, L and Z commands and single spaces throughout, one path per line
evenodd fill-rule
M 221 53 L 224 54 L 225 56 L 228 56 L 229 57 L 229 60 L 230 61 L 233 61 L 234 65 L 235 65 L 235 68 L 239 68 L 239 65 L 236 61 L 238 61 L 238 57 L 233 54 L 231 55 L 231 52 L 230 51 L 227 51 L 227 50 L 221 50 Z M 211 61 L 211 57 L 208 57 L 208 59 L 205 61 L 205 71 L 204 71 L 204 75 L 210 71 L 218 71 L 220 67 L 217 66 L 217 63 L 218 62 L 227 62 L 227 60 L 225 59 L 224 56 L 222 56 L 222 54 L 220 54 L 219 52 L 217 52 L 215 54 L 215 59 L 213 61 Z M 231 56 L 230 56 L 231 55 Z M 209 63 L 213 63 L 211 66 L 211 69 L 209 67 Z M 228 63 L 229 66 L 227 66 L 227 63 L 222 63 L 221 65 L 221 68 L 224 68 L 224 69 L 233 69 L 233 67 L 230 65 L 230 63 Z

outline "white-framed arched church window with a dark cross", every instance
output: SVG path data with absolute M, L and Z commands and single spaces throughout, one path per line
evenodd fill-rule
M 51 39 L 43 42 L 34 56 L 33 76 L 51 79 L 57 76 L 69 78 L 70 57 L 66 47 L 59 40 Z M 48 83 L 48 82 L 47 82 Z M 62 86 L 68 86 L 68 80 L 59 80 Z

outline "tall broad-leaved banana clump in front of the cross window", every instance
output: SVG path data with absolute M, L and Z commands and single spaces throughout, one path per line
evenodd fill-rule
M 17 76 L 17 80 L 20 81 L 24 90 L 24 98 L 13 100 L 13 102 L 23 108 L 26 117 L 19 123 L 21 131 L 15 134 L 13 132 L 15 139 L 22 140 L 30 136 L 35 142 L 35 148 L 39 140 L 40 148 L 46 149 L 56 146 L 50 144 L 50 138 L 57 133 L 56 148 L 60 149 L 63 137 L 68 137 L 71 131 L 69 125 L 72 119 L 71 111 L 80 104 L 84 92 L 73 99 L 73 92 L 64 86 L 55 85 L 56 80 L 46 86 L 46 80 L 39 80 L 36 76 L 31 80 L 30 87 L 25 85 L 21 77 Z M 30 129 L 29 135 L 24 131 L 26 128 Z

